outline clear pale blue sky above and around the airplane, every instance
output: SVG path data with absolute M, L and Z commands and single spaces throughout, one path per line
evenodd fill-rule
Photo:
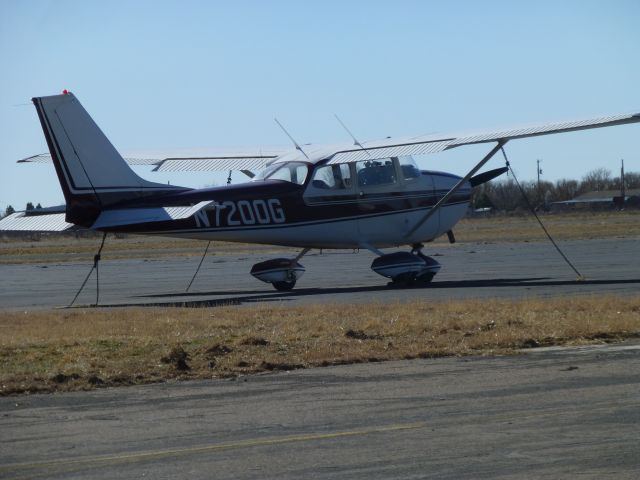
M 52 166 L 15 164 L 46 151 L 32 96 L 73 91 L 119 149 L 287 144 L 274 116 L 301 143 L 348 141 L 334 113 L 361 140 L 589 118 L 640 111 L 639 25 L 638 0 L 5 0 L 0 209 L 63 203 Z M 463 174 L 486 150 L 418 160 Z M 640 126 L 508 152 L 523 179 L 640 171 Z

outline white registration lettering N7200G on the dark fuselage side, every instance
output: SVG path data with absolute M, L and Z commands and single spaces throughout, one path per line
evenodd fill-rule
M 203 220 L 200 218 L 200 220 Z M 267 225 L 269 223 L 284 223 L 286 217 L 280 200 L 227 200 L 215 205 L 216 227 L 234 227 L 239 225 Z M 196 217 L 198 226 L 200 222 Z M 203 222 L 204 223 L 204 222 Z

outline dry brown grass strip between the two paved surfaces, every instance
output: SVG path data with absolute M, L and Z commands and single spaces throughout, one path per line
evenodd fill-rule
M 614 341 L 640 298 L 0 313 L 0 394 Z

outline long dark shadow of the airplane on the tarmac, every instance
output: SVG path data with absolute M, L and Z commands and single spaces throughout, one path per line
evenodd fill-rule
M 458 280 L 436 281 L 428 284 L 410 285 L 372 285 L 357 287 L 330 287 L 330 288 L 298 288 L 290 292 L 278 292 L 274 290 L 224 290 L 208 292 L 179 292 L 153 295 L 141 295 L 137 298 L 154 299 L 144 303 L 100 305 L 101 307 L 219 307 L 230 305 L 242 305 L 258 302 L 283 302 L 301 297 L 313 297 L 315 295 L 341 295 L 349 293 L 382 292 L 389 290 L 431 290 L 431 289 L 460 289 L 460 288 L 504 288 L 504 287 L 554 287 L 554 286 L 582 286 L 582 285 L 625 285 L 640 284 L 640 279 L 600 279 L 600 280 L 551 280 L 548 277 L 520 277 L 520 278 L 494 278 L 484 280 Z M 202 300 L 194 297 L 218 297 Z M 223 298 L 220 298 L 223 297 Z M 180 298 L 185 298 L 180 300 Z M 157 300 L 156 300 L 157 299 Z M 162 301 L 161 299 L 166 299 Z

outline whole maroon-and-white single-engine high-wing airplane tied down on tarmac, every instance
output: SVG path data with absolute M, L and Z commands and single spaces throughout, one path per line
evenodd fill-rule
M 471 189 L 504 173 L 506 167 L 477 172 L 508 141 L 640 122 L 636 113 L 470 136 L 438 134 L 360 143 L 351 135 L 353 144 L 303 147 L 290 137 L 295 148 L 125 155 L 125 161 L 72 93 L 33 98 L 33 103 L 66 200 L 66 223 L 60 229 L 73 224 L 101 232 L 300 248 L 295 258 L 276 258 L 251 269 L 254 277 L 277 290 L 295 286 L 305 271 L 299 261 L 310 249 L 368 249 L 377 255 L 371 268 L 391 282 L 427 283 L 440 264 L 422 253 L 424 243 L 444 234 L 454 241 L 452 228 L 467 210 Z M 420 170 L 412 159 L 480 143 L 493 146 L 463 177 Z M 147 181 L 128 163 L 155 164 L 161 170 L 235 169 L 253 178 L 192 189 Z M 260 167 L 264 169 L 253 175 L 252 170 Z M 43 229 L 37 216 L 12 217 L 5 220 L 35 221 L 31 228 Z M 399 245 L 408 249 L 388 254 L 379 250 Z

